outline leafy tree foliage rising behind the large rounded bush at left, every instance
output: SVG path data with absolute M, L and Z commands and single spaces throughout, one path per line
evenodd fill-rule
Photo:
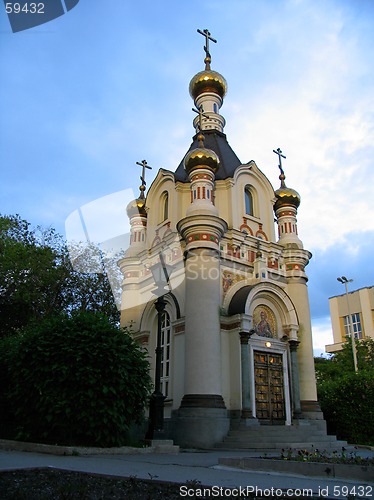
M 98 311 L 118 321 L 106 275 L 84 272 L 96 254 L 77 246 L 76 260 L 85 263 L 80 270 L 54 229 L 31 229 L 18 215 L 0 216 L 0 337 L 60 312 Z

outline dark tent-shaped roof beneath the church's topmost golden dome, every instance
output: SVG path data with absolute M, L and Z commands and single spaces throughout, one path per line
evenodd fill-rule
M 215 179 L 223 180 L 233 177 L 235 170 L 242 163 L 231 149 L 230 144 L 227 142 L 226 134 L 223 134 L 218 130 L 203 130 L 203 133 L 205 137 L 204 146 L 208 149 L 212 149 L 218 155 L 220 160 L 220 166 L 215 175 Z M 198 134 L 193 137 L 193 142 L 186 154 L 199 147 L 197 136 Z M 184 158 L 175 171 L 175 180 L 179 182 L 188 182 L 188 175 L 184 169 L 183 161 Z

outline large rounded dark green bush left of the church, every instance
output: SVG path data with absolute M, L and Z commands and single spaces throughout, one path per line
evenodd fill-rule
M 46 319 L 11 347 L 4 347 L 3 376 L 18 439 L 120 446 L 131 424 L 141 422 L 150 391 L 148 362 L 131 336 L 104 316 Z

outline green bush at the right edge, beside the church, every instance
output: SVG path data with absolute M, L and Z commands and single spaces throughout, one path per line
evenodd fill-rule
M 347 372 L 319 382 L 318 398 L 329 432 L 352 444 L 374 445 L 372 370 Z

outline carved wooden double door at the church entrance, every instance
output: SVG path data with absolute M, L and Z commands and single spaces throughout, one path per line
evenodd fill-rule
M 282 354 L 254 351 L 256 417 L 263 423 L 285 421 Z

